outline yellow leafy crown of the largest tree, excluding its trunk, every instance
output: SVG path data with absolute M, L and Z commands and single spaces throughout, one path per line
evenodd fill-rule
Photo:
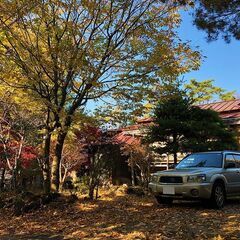
M 13 2 L 17 9 L 19 1 Z M 24 2 L 34 4 L 30 0 Z M 69 9 L 72 12 L 68 15 Z M 110 98 L 134 103 L 113 109 L 106 121 L 114 119 L 109 116 L 117 115 L 122 119 L 126 119 L 127 114 L 136 118 L 144 114 L 143 108 L 151 111 L 150 103 L 140 106 L 149 101 L 146 100 L 147 88 L 151 89 L 163 77 L 177 77 L 199 65 L 198 53 L 182 43 L 175 31 L 180 22 L 178 11 L 172 1 L 152 1 L 149 5 L 147 1 L 39 2 L 22 21 L 17 21 L 3 34 L 3 37 L 12 36 L 8 45 L 15 46 L 10 49 L 14 73 L 9 71 L 6 56 L 4 78 L 10 83 L 20 81 L 36 93 L 28 92 L 34 95 L 28 97 L 19 92 L 14 101 L 29 104 L 33 109 L 45 106 L 58 113 L 56 103 L 63 99 L 65 108 L 71 107 L 76 98 L 84 99 L 79 104 L 83 106 L 85 99 L 92 96 L 105 92 L 109 97 L 116 86 L 114 91 L 118 88 L 120 94 L 113 93 Z M 138 15 L 141 17 L 136 21 Z M 91 85 L 86 92 L 84 84 Z M 68 86 L 67 89 L 64 86 Z M 64 92 L 67 92 L 66 98 L 61 97 Z M 41 100 L 37 98 L 39 95 Z M 60 112 L 61 123 L 66 115 L 64 110 Z M 81 114 L 73 118 L 71 131 L 79 122 L 88 121 Z

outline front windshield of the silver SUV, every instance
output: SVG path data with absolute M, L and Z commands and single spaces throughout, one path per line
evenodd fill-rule
M 198 168 L 198 167 L 222 167 L 222 154 L 221 153 L 196 153 L 191 154 L 184 158 L 177 166 L 181 168 Z

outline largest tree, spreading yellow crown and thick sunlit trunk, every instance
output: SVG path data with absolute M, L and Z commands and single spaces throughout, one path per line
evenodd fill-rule
M 199 52 L 178 41 L 174 31 L 179 5 L 160 0 L 23 5 L 13 0 L 1 5 L 1 70 L 9 74 L 17 69 L 14 81 L 6 76 L 2 81 L 34 93 L 46 106 L 47 152 L 51 133 L 57 133 L 54 191 L 59 188 L 64 141 L 78 109 L 103 96 L 120 99 L 131 91 L 147 91 L 166 75 L 198 68 Z

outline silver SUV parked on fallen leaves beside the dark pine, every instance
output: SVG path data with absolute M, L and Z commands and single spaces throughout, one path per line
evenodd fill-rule
M 240 196 L 240 152 L 190 154 L 175 169 L 154 173 L 149 189 L 159 203 L 203 199 L 222 208 L 226 198 Z

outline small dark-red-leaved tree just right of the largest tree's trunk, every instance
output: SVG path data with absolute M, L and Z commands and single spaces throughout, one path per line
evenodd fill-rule
M 94 125 L 85 124 L 75 134 L 87 163 L 85 177 L 88 195 L 94 199 L 94 192 L 97 198 L 99 186 L 111 178 L 116 145 L 111 137 Z

